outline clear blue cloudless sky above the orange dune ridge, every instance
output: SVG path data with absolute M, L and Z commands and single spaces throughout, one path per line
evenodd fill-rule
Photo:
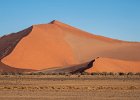
M 0 35 L 59 20 L 111 38 L 140 41 L 140 0 L 0 0 Z

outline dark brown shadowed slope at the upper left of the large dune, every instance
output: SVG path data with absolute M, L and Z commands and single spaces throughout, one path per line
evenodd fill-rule
M 12 52 L 17 43 L 32 31 L 32 26 L 17 33 L 0 37 L 0 59 Z

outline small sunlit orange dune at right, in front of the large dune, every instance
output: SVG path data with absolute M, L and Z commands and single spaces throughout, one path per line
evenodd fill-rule
M 87 72 L 140 72 L 140 61 L 97 58 Z

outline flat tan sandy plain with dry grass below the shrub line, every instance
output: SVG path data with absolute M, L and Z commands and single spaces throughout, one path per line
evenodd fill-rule
M 140 100 L 140 76 L 0 76 L 0 100 Z

